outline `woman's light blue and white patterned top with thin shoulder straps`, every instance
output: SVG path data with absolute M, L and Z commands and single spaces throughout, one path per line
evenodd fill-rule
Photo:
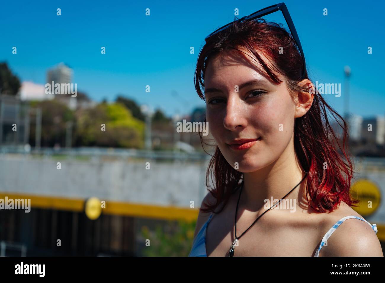
M 212 216 L 213 216 L 213 213 L 210 214 L 206 223 L 204 223 L 204 225 L 202 226 L 202 228 L 199 230 L 198 234 L 196 235 L 194 241 L 192 242 L 192 248 L 191 248 L 189 256 L 207 256 L 207 254 L 206 254 L 206 229 L 207 229 L 207 225 L 209 224 Z M 325 234 L 325 236 L 323 236 L 321 244 L 318 247 L 318 250 L 316 251 L 314 256 L 319 255 L 321 248 L 324 246 L 324 244 L 326 243 L 326 240 L 330 237 L 330 235 L 333 234 L 333 232 L 338 228 L 338 226 L 341 225 L 341 223 L 343 221 L 345 221 L 346 219 L 349 219 L 349 218 L 356 218 L 356 219 L 360 219 L 362 221 L 365 221 L 366 223 L 368 223 L 372 227 L 372 229 L 375 231 L 375 233 L 377 233 L 377 225 L 376 224 L 372 225 L 368 221 L 366 221 L 365 219 L 362 219 L 362 218 L 354 216 L 354 215 L 345 216 L 345 217 L 341 218 L 340 220 L 338 220 L 337 223 L 334 224 L 333 227 L 331 227 L 329 229 L 329 231 L 326 232 L 326 234 Z

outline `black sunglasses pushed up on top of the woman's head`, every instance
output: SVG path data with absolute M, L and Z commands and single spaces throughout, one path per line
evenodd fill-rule
M 223 27 L 220 27 L 217 30 L 215 30 L 214 32 L 210 33 L 208 36 L 206 36 L 206 38 L 204 40 L 207 42 L 209 37 L 213 36 L 214 34 L 216 34 L 218 32 L 221 32 L 222 30 L 225 30 L 226 28 L 233 25 L 233 23 L 235 23 L 235 22 L 238 22 L 238 21 L 244 22 L 246 20 L 253 20 L 255 18 L 260 18 L 260 17 L 266 16 L 268 14 L 274 13 L 278 10 L 281 10 L 281 12 L 283 13 L 283 17 L 285 17 L 285 20 L 286 20 L 286 23 L 288 24 L 291 35 L 292 35 L 293 39 L 295 40 L 295 42 L 298 46 L 298 49 L 300 50 L 300 53 L 302 56 L 302 61 L 303 61 L 302 78 L 305 78 L 305 71 L 306 71 L 306 69 L 305 69 L 305 66 L 306 66 L 305 55 L 303 54 L 300 38 L 298 37 L 297 31 L 296 31 L 294 24 L 293 24 L 293 20 L 291 20 L 288 8 L 286 8 L 285 3 L 279 3 L 279 4 L 271 5 L 269 7 L 263 8 L 257 12 L 254 12 L 248 16 L 244 16 L 244 17 L 240 18 L 239 20 L 228 23 L 227 25 L 224 25 Z

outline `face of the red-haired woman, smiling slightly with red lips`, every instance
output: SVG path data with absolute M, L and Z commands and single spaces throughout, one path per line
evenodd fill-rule
M 283 80 L 280 75 L 278 78 Z M 273 84 L 263 69 L 258 70 L 237 53 L 227 52 L 209 61 L 204 89 L 208 127 L 233 168 L 253 172 L 281 156 L 293 137 L 298 116 L 298 103 L 285 81 Z M 231 146 L 234 142 L 238 145 Z

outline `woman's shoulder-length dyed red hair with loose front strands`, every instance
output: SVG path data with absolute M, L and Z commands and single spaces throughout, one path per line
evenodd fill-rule
M 226 50 L 236 50 L 246 54 L 239 50 L 239 47 L 248 50 L 254 56 L 256 62 L 263 67 L 275 84 L 280 84 L 282 81 L 273 73 L 269 65 L 283 75 L 293 97 L 299 92 L 309 92 L 308 86 L 301 87 L 298 84 L 301 80 L 309 78 L 306 70 L 305 77 L 301 76 L 303 60 L 293 37 L 281 24 L 266 22 L 259 18 L 253 21 L 236 22 L 232 27 L 208 39 L 199 52 L 194 74 L 195 89 L 201 99 L 205 100 L 204 74 L 209 60 Z M 278 52 L 280 47 L 283 47 L 284 54 Z M 258 52 L 263 52 L 270 61 L 265 62 Z M 301 166 L 308 172 L 306 198 L 307 196 L 309 198 L 307 201 L 311 208 L 324 213 L 333 211 L 341 201 L 349 206 L 355 206 L 358 201 L 349 193 L 353 165 L 345 150 L 348 137 L 346 122 L 325 102 L 317 89 L 314 92 L 313 104 L 309 111 L 295 119 L 294 148 Z M 326 108 L 340 126 L 336 117 L 343 122 L 342 145 L 329 123 Z M 201 133 L 199 136 L 203 142 Z M 327 169 L 323 169 L 324 162 L 327 164 Z M 206 186 L 208 187 L 211 174 L 214 175 L 215 188 L 209 190 L 209 193 L 216 199 L 216 203 L 204 203 L 206 208 L 200 208 L 202 212 L 214 211 L 222 201 L 226 204 L 231 194 L 239 189 L 240 181 L 243 179 L 243 173 L 235 170 L 226 161 L 218 146 L 207 169 Z

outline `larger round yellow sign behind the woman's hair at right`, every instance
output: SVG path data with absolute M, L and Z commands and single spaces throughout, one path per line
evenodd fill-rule
M 381 202 L 381 191 L 377 184 L 368 179 L 361 179 L 351 187 L 350 194 L 358 199 L 360 203 L 352 208 L 362 216 L 374 213 Z

